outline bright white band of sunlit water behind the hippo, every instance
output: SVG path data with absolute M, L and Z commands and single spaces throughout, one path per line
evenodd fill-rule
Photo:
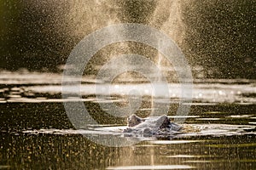
M 12 77 L 11 79 L 9 77 Z M 151 85 L 142 82 L 140 79 L 132 79 L 134 82 L 122 82 L 110 86 L 110 93 L 119 96 L 122 99 L 128 95 L 131 88 L 136 88 L 140 94 L 150 96 L 153 93 Z M 124 80 L 123 80 L 124 81 Z M 2 72 L 0 83 L 5 84 L 0 87 L 0 102 L 8 100 L 9 102 L 63 102 L 61 99 L 61 74 L 49 73 L 19 73 L 19 72 Z M 108 93 L 104 88 L 107 86 L 103 83 L 96 82 L 101 91 L 96 91 L 95 77 L 87 76 L 82 78 L 81 94 L 105 95 Z M 106 86 L 106 87 L 105 87 Z M 255 81 L 242 79 L 195 79 L 193 100 L 195 103 L 238 103 L 253 104 L 256 103 Z M 168 85 L 169 96 L 172 102 L 178 102 L 181 97 L 180 85 L 172 82 Z M 73 92 L 73 87 L 70 87 Z M 155 96 L 164 97 L 164 96 Z M 91 98 L 90 98 L 91 99 Z M 83 99 L 84 101 L 90 99 Z M 116 98 L 113 98 L 116 99 Z M 70 99 L 75 100 L 75 99 Z M 96 101 L 97 99 L 91 99 Z M 106 100 L 105 98 L 103 100 Z M 98 102 L 103 102 L 102 100 Z M 108 102 L 108 99 L 107 101 Z

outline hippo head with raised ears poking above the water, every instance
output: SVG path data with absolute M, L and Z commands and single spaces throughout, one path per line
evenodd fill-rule
M 166 115 L 142 118 L 131 115 L 127 118 L 126 134 L 142 134 L 143 136 L 170 136 L 182 129 L 182 126 L 170 121 Z

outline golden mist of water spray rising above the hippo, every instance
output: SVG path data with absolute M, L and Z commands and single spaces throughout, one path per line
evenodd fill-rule
M 152 26 L 160 31 L 164 31 L 179 46 L 183 44 L 184 31 L 186 26 L 183 23 L 182 2 L 180 0 L 160 0 L 160 1 L 137 1 L 129 2 L 119 1 L 119 3 L 111 0 L 98 1 L 70 1 L 68 3 L 70 9 L 67 14 L 69 22 L 70 37 L 81 39 L 82 37 L 96 31 L 104 26 L 111 26 L 119 23 L 142 23 Z M 111 32 L 116 36 L 118 32 Z M 165 44 L 160 43 L 161 48 L 165 48 Z M 147 47 L 140 44 L 131 44 L 130 42 L 120 42 L 103 48 L 98 54 L 94 62 L 97 65 L 90 68 L 99 68 L 103 65 L 102 61 L 111 59 L 113 55 L 136 53 L 148 56 L 160 68 L 164 66 L 172 67 L 164 56 L 159 52 L 148 50 Z M 125 65 L 122 65 L 125 67 Z M 96 72 L 90 71 L 90 74 Z M 136 76 L 131 73 L 125 73 L 122 76 L 125 80 L 135 79 Z

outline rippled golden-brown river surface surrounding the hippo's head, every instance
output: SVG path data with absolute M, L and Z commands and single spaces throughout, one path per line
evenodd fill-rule
M 137 115 L 149 116 L 155 108 L 147 82 L 113 84 L 113 95 L 99 99 L 94 78 L 84 77 L 82 100 L 98 125 L 75 129 L 63 105 L 68 99 L 61 98 L 61 74 L 2 71 L 0 169 L 256 169 L 255 80 L 196 79 L 182 123 L 187 130 L 170 139 L 125 137 L 125 117 L 102 111 L 100 103 L 124 105 L 131 86 L 146 96 Z M 168 87 L 173 119 L 179 85 Z M 118 147 L 92 137 L 135 142 Z

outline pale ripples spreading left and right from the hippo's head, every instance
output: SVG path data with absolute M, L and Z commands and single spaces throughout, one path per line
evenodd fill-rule
M 255 123 L 255 122 L 253 122 Z M 253 125 L 230 125 L 230 124 L 185 124 L 184 129 L 180 133 L 174 135 L 175 138 L 191 137 L 191 136 L 233 136 L 243 134 L 256 134 L 256 126 Z M 88 127 L 87 127 L 88 128 Z M 110 126 L 98 125 L 97 127 L 89 127 L 89 129 L 39 129 L 39 130 L 25 130 L 23 133 L 30 134 L 95 134 L 95 135 L 121 135 L 126 126 Z M 196 130 L 195 130 L 196 129 Z M 249 132 L 248 132 L 249 131 Z M 123 138 L 125 138 L 123 136 Z M 140 140 L 150 140 L 152 144 L 185 144 L 191 142 L 201 142 L 202 140 L 156 140 L 150 137 L 143 137 L 137 135 Z M 153 139 L 153 140 L 152 140 Z

